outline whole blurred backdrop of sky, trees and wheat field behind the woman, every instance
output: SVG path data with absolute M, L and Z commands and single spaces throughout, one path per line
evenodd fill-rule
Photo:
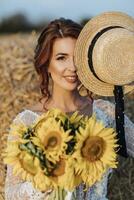
M 39 80 L 33 66 L 38 34 L 51 20 L 70 18 L 85 24 L 105 11 L 134 17 L 133 0 L 0 0 L 0 152 L 17 113 L 37 103 Z M 112 97 L 99 97 L 114 102 Z M 134 92 L 125 96 L 125 113 L 134 122 Z M 0 157 L 0 200 L 4 199 L 6 167 Z M 109 179 L 110 200 L 134 200 L 134 159 L 119 157 Z

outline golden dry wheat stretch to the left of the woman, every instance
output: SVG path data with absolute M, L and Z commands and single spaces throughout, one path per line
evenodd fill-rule
M 0 36 L 0 152 L 17 113 L 36 103 L 39 81 L 33 66 L 37 34 Z M 5 166 L 0 154 L 0 199 L 4 199 Z

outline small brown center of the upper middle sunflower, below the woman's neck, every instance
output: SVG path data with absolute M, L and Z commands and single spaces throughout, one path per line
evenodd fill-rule
M 61 136 L 59 132 L 52 131 L 49 132 L 48 135 L 44 139 L 44 146 L 46 149 L 53 149 L 56 146 L 59 146 L 61 144 Z

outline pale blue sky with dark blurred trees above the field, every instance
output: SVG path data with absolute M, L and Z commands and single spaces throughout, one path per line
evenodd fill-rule
M 0 33 L 39 30 L 59 17 L 83 23 L 105 11 L 122 11 L 133 16 L 134 1 L 0 0 Z

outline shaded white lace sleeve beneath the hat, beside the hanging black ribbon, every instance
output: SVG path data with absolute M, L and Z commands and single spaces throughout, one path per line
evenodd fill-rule
M 115 105 L 109 101 L 99 99 L 96 106 L 105 114 L 107 123 L 116 128 Z M 134 157 L 134 123 L 125 115 L 125 139 L 129 156 Z

